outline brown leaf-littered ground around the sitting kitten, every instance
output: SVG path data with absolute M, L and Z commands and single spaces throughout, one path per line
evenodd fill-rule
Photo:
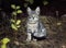
M 19 28 L 16 39 L 14 39 L 15 32 L 9 25 L 1 23 L 0 40 L 4 37 L 10 38 L 11 41 L 8 44 L 8 48 L 66 48 L 66 16 L 62 16 L 59 20 L 53 16 L 40 17 L 47 29 L 46 39 L 26 43 L 26 17 L 23 17 L 21 19 L 21 28 Z

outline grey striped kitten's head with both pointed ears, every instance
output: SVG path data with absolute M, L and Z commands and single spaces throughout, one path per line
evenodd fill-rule
M 29 21 L 32 23 L 35 23 L 38 21 L 40 15 L 40 8 L 37 7 L 35 11 L 32 11 L 30 8 L 28 8 L 28 14 L 29 14 Z

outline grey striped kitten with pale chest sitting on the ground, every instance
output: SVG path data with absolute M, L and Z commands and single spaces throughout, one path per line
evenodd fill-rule
M 28 41 L 31 41 L 32 36 L 36 38 L 45 37 L 46 36 L 46 28 L 40 22 L 40 8 L 37 7 L 35 11 L 32 11 L 28 8 L 28 23 L 26 23 L 26 32 L 28 32 Z

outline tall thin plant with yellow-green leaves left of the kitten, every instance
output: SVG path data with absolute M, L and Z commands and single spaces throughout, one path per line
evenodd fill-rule
M 22 13 L 22 11 L 20 10 L 20 5 L 15 5 L 15 4 L 12 4 L 11 8 L 14 10 L 12 12 L 12 17 L 11 19 L 11 27 L 14 29 L 14 31 L 18 31 L 19 27 L 20 27 L 20 24 L 21 24 L 21 20 L 16 20 L 16 15 L 19 13 Z

